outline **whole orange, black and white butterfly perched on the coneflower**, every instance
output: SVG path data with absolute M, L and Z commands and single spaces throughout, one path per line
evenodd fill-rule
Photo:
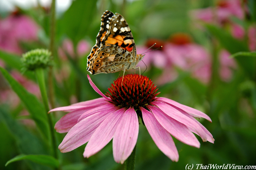
M 96 44 L 87 57 L 87 71 L 99 74 L 140 69 L 136 65 L 143 57 L 136 55 L 132 32 L 124 17 L 106 10 L 101 16 Z

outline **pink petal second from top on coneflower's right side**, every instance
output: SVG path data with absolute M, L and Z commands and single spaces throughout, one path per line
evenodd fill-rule
M 166 115 L 170 116 L 172 119 L 175 119 L 176 121 L 186 125 L 186 127 L 188 128 L 192 128 L 194 131 L 196 131 L 199 134 L 199 136 L 202 138 L 204 142 L 207 141 L 207 134 L 192 119 L 190 119 L 189 117 L 182 114 L 180 111 L 178 111 L 177 109 L 175 109 L 174 107 L 166 103 L 154 101 L 152 102 L 152 104 L 159 107 L 159 109 L 161 109 Z

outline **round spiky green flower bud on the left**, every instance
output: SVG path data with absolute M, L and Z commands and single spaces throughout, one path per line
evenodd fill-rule
M 22 55 L 23 71 L 46 68 L 52 65 L 51 52 L 47 49 L 33 49 Z

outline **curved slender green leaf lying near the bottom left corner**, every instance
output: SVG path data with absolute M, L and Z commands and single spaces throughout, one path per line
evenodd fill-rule
M 8 162 L 6 162 L 5 166 L 7 166 L 8 164 L 10 164 L 12 162 L 16 162 L 16 161 L 19 161 L 19 160 L 31 160 L 31 161 L 36 162 L 38 164 L 42 164 L 42 165 L 45 165 L 45 166 L 50 166 L 50 167 L 53 167 L 53 168 L 58 168 L 58 166 L 59 166 L 58 160 L 56 160 L 52 156 L 49 156 L 49 155 L 24 155 L 24 154 L 15 156 L 14 158 L 12 158 Z

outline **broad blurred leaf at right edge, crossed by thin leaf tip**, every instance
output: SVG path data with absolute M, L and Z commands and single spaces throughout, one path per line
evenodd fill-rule
M 231 54 L 249 51 L 247 42 L 236 40 L 222 28 L 213 25 L 206 25 L 206 28 Z M 248 55 L 238 55 L 235 59 L 250 79 L 255 79 L 256 58 L 248 57 Z

